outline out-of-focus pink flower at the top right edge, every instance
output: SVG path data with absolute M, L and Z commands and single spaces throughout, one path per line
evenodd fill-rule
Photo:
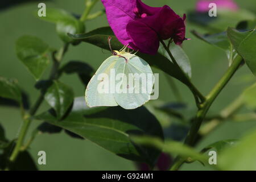
M 217 9 L 238 10 L 236 2 L 233 0 L 199 0 L 196 3 L 196 11 L 200 13 L 209 11 L 209 3 L 216 3 Z

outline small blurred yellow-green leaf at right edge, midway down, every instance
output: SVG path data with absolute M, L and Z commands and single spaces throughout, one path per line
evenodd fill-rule
M 251 85 L 243 92 L 242 99 L 249 109 L 256 109 L 256 83 Z

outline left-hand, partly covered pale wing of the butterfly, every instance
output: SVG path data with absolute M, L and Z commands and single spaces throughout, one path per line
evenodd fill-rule
M 117 106 L 114 94 L 110 92 L 110 72 L 118 59 L 118 56 L 110 56 L 90 79 L 85 90 L 85 101 L 89 107 Z

